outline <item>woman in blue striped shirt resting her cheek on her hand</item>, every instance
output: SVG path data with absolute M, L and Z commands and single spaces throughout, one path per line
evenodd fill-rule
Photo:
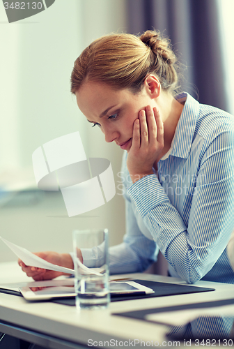
M 95 40 L 75 61 L 71 84 L 88 121 L 125 150 L 127 232 L 109 250 L 111 273 L 143 271 L 160 249 L 171 276 L 234 283 L 226 249 L 234 227 L 233 117 L 176 95 L 176 56 L 156 31 Z M 38 255 L 73 266 L 69 254 Z M 36 280 L 61 274 L 20 265 Z

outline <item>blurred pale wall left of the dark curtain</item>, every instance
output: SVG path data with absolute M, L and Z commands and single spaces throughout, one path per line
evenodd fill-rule
M 86 155 L 109 158 L 116 177 L 122 151 L 105 144 L 100 130 L 79 112 L 70 73 L 93 39 L 125 31 L 125 1 L 56 0 L 35 17 L 12 24 L 0 11 L 0 192 L 24 188 L 0 195 L 1 236 L 30 251 L 66 252 L 72 230 L 107 227 L 110 244 L 118 244 L 125 232 L 121 195 L 68 218 L 61 193 L 35 191 L 31 154 L 44 142 L 78 130 Z M 7 260 L 15 255 L 0 243 L 0 262 Z

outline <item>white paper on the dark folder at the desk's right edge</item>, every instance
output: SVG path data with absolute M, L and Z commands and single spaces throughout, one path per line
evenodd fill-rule
M 161 322 L 167 325 L 180 326 L 200 317 L 233 315 L 234 306 L 216 306 L 214 308 L 187 309 L 181 311 L 166 311 L 165 313 L 155 313 L 146 315 L 146 320 Z

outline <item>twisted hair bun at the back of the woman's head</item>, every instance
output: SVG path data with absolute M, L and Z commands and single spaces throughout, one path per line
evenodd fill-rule
M 167 64 L 174 64 L 176 55 L 171 50 L 168 38 L 163 38 L 157 31 L 148 30 L 140 36 L 141 41 L 146 44 L 157 58 L 162 57 Z

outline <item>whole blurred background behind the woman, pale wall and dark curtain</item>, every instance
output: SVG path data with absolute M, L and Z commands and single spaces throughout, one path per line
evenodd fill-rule
M 110 244 L 120 243 L 123 151 L 105 144 L 100 130 L 79 112 L 70 94 L 74 61 L 104 34 L 159 29 L 171 38 L 182 62 L 182 89 L 234 114 L 233 13 L 233 0 L 56 0 L 42 13 L 8 24 L 0 3 L 0 236 L 30 251 L 67 252 L 72 230 L 107 227 Z M 45 142 L 75 131 L 86 156 L 111 161 L 116 196 L 68 218 L 60 192 L 37 189 L 31 155 Z M 0 242 L 0 262 L 8 260 L 15 255 Z M 166 272 L 165 267 L 155 270 Z

